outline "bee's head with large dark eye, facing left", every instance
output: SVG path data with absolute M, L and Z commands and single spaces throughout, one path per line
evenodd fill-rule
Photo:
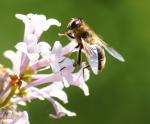
M 78 27 L 81 26 L 82 19 L 81 18 L 72 18 L 72 20 L 69 22 L 67 28 L 69 30 L 74 30 L 77 29 Z

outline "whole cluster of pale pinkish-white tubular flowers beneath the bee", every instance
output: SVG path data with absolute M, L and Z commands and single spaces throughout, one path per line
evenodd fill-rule
M 86 84 L 89 70 L 84 68 L 83 62 L 80 70 L 76 71 L 74 60 L 68 57 L 77 43 L 71 41 L 63 47 L 60 41 L 53 46 L 39 41 L 42 33 L 51 26 L 61 26 L 56 19 L 46 19 L 44 15 L 37 14 L 16 14 L 16 18 L 25 24 L 25 32 L 23 41 L 15 46 L 16 51 L 4 52 L 4 56 L 12 62 L 12 69 L 0 65 L 0 123 L 29 124 L 28 113 L 18 111 L 17 106 L 26 105 L 34 99 L 46 99 L 52 103 L 56 111 L 56 114 L 50 114 L 53 118 L 76 116 L 55 98 L 68 103 L 64 88 L 71 85 L 89 95 Z M 50 73 L 42 73 L 43 70 Z M 43 84 L 46 85 L 39 88 Z

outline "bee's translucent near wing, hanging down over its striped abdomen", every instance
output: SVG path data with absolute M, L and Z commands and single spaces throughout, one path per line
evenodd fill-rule
M 90 45 L 82 40 L 83 50 L 87 57 L 88 63 L 93 71 L 94 74 L 98 74 L 99 70 L 99 54 L 98 54 L 98 46 L 97 45 Z

